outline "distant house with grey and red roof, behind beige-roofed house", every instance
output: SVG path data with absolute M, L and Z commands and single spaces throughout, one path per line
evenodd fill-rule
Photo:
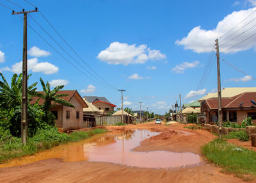
M 114 108 L 116 107 L 114 104 L 111 104 L 111 102 L 109 102 L 109 100 L 105 97 L 84 96 L 84 99 L 92 103 L 98 109 L 103 110 L 104 115 L 113 112 Z

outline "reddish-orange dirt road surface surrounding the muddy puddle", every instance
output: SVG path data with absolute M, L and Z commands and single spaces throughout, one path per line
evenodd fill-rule
M 110 131 L 149 129 L 161 132 L 141 142 L 136 151 L 168 150 L 200 154 L 200 147 L 216 138 L 204 130 L 191 131 L 184 125 L 108 126 Z M 113 163 L 80 161 L 65 163 L 60 159 L 47 159 L 36 163 L 0 169 L 0 182 L 243 182 L 205 161 L 199 166 L 186 168 L 137 168 Z M 253 182 L 253 180 L 251 181 Z

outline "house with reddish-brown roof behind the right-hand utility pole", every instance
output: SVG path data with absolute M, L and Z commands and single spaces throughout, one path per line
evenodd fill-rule
M 247 117 L 256 122 L 256 92 L 244 92 L 234 97 L 221 98 L 223 121 L 241 124 Z M 206 99 L 202 108 L 205 123 L 218 122 L 218 98 Z

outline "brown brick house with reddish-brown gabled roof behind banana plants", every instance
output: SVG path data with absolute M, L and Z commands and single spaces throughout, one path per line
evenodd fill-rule
M 44 92 L 39 92 L 44 93 Z M 81 129 L 83 127 L 83 109 L 88 107 L 81 95 L 76 90 L 61 90 L 56 95 L 67 94 L 67 97 L 60 99 L 70 102 L 75 108 L 62 106 L 61 104 L 52 102 L 51 111 L 55 116 L 54 121 L 60 131 L 68 131 L 71 129 Z M 33 97 L 31 104 L 34 104 L 38 97 Z M 39 99 L 38 105 L 43 105 L 44 99 Z

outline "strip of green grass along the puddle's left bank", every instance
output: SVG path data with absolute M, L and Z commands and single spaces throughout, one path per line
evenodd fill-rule
M 13 137 L 10 132 L 0 131 L 0 163 L 4 163 L 8 159 L 22 157 L 24 155 L 32 155 L 46 149 L 50 149 L 62 143 L 79 141 L 89 138 L 93 134 L 107 132 L 104 129 L 93 129 L 91 131 L 76 131 L 70 135 L 58 132 L 58 129 L 44 129 L 36 132 L 35 136 L 28 138 L 28 143 L 22 145 L 21 139 Z

